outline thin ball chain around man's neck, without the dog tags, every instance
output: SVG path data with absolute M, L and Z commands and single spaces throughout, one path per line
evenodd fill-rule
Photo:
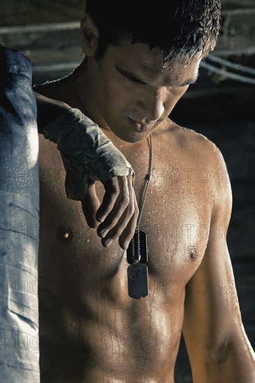
M 84 114 L 86 114 L 86 116 L 87 116 L 88 112 L 84 108 L 84 105 L 82 104 L 82 101 L 80 100 L 79 95 L 78 95 L 77 90 L 76 90 L 76 87 L 75 87 L 75 70 L 72 72 L 72 88 L 75 92 L 75 96 L 77 98 L 77 101 L 79 102 L 80 107 L 82 107 Z M 145 176 L 146 185 L 145 185 L 145 191 L 144 191 L 144 198 L 143 198 L 143 201 L 141 202 L 141 207 L 139 209 L 139 215 L 137 218 L 137 226 L 135 228 L 135 231 L 137 233 L 137 257 L 135 256 L 134 237 L 132 238 L 132 257 L 134 259 L 134 263 L 138 263 L 139 260 L 141 259 L 139 226 L 141 223 L 141 215 L 144 212 L 144 204 L 145 204 L 146 196 L 148 193 L 148 185 L 150 182 L 152 166 L 153 166 L 153 134 L 150 133 L 150 150 L 149 150 L 149 160 L 148 160 L 148 173 Z

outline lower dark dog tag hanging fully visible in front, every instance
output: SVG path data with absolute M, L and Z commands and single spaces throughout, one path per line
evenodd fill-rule
M 144 263 L 127 267 L 127 286 L 130 298 L 140 299 L 148 295 L 148 267 Z

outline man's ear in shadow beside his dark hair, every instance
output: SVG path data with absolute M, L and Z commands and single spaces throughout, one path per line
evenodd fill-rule
M 81 21 L 82 50 L 86 56 L 93 56 L 98 47 L 98 28 L 87 14 Z

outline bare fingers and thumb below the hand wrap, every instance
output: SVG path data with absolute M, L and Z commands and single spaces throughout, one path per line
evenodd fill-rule
M 84 216 L 88 226 L 98 228 L 104 247 L 109 247 L 113 240 L 118 240 L 120 247 L 127 249 L 134 235 L 139 213 L 132 187 L 132 175 L 111 178 L 105 182 L 104 187 L 105 196 L 100 205 L 95 183 L 88 185 L 82 201 Z

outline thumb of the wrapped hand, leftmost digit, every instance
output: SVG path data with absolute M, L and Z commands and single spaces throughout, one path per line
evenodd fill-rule
M 82 202 L 82 210 L 86 218 L 87 224 L 91 228 L 98 227 L 98 221 L 95 219 L 95 213 L 97 212 L 100 201 L 95 192 L 95 183 L 88 185 L 86 196 Z

